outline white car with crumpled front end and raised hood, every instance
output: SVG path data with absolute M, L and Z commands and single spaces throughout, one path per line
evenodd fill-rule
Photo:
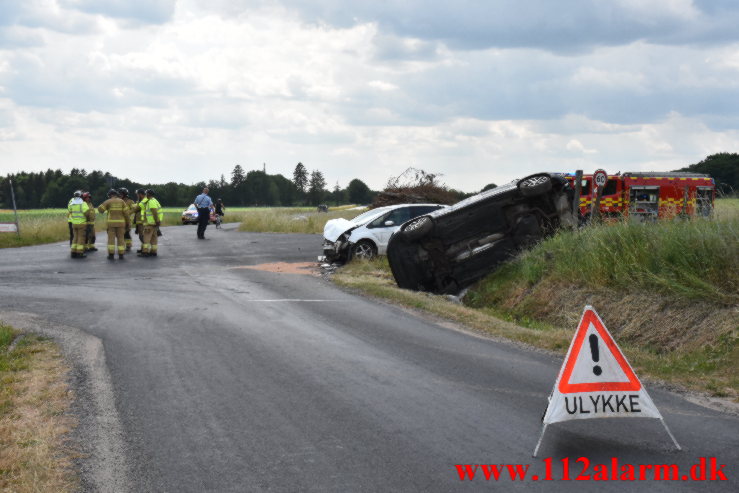
M 369 210 L 354 219 L 331 219 L 323 228 L 325 260 L 341 262 L 352 257 L 385 255 L 390 237 L 404 222 L 442 207 L 447 206 L 398 204 Z

